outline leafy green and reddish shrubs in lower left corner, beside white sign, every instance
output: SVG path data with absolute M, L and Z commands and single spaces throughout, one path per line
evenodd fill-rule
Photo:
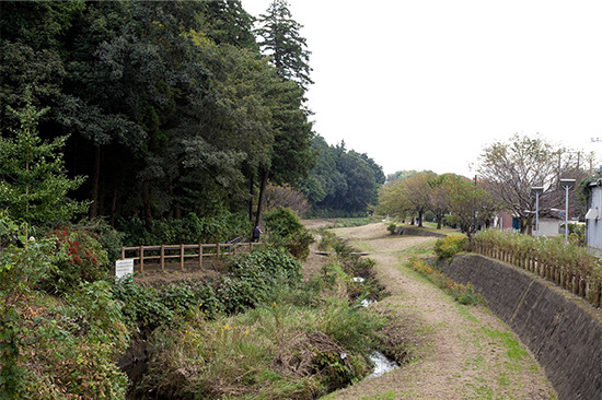
M 61 242 L 26 232 L 0 215 L 0 392 L 10 399 L 123 399 L 128 381 L 114 363 L 128 344 L 121 303 L 107 282 L 88 282 L 81 273 L 67 281 L 58 270 L 65 261 L 85 270 L 82 263 L 106 254 L 73 236 Z M 80 251 L 90 251 L 81 263 Z M 44 289 L 60 289 L 61 296 Z

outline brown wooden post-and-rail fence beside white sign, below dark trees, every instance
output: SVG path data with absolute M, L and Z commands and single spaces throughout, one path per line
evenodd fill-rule
M 165 271 L 165 263 L 176 260 L 180 269 L 184 271 L 186 260 L 198 261 L 202 268 L 202 260 L 207 257 L 229 256 L 238 251 L 252 251 L 256 243 L 224 243 L 210 245 L 161 245 L 161 246 L 137 246 L 121 247 L 121 260 L 132 259 L 138 261 L 140 271 L 144 271 L 144 263 L 159 263 L 162 271 Z M 206 251 L 207 250 L 207 251 Z

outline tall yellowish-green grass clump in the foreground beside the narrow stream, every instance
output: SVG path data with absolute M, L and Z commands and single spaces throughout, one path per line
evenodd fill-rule
M 198 313 L 178 331 L 155 332 L 147 390 L 177 398 L 313 399 L 369 372 L 381 317 L 339 298 L 317 307 L 280 301 L 216 320 Z

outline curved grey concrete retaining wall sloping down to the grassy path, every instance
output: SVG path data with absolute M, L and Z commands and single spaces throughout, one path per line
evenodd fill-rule
M 602 399 L 602 313 L 525 271 L 478 255 L 439 262 L 471 282 L 531 350 L 560 400 Z

